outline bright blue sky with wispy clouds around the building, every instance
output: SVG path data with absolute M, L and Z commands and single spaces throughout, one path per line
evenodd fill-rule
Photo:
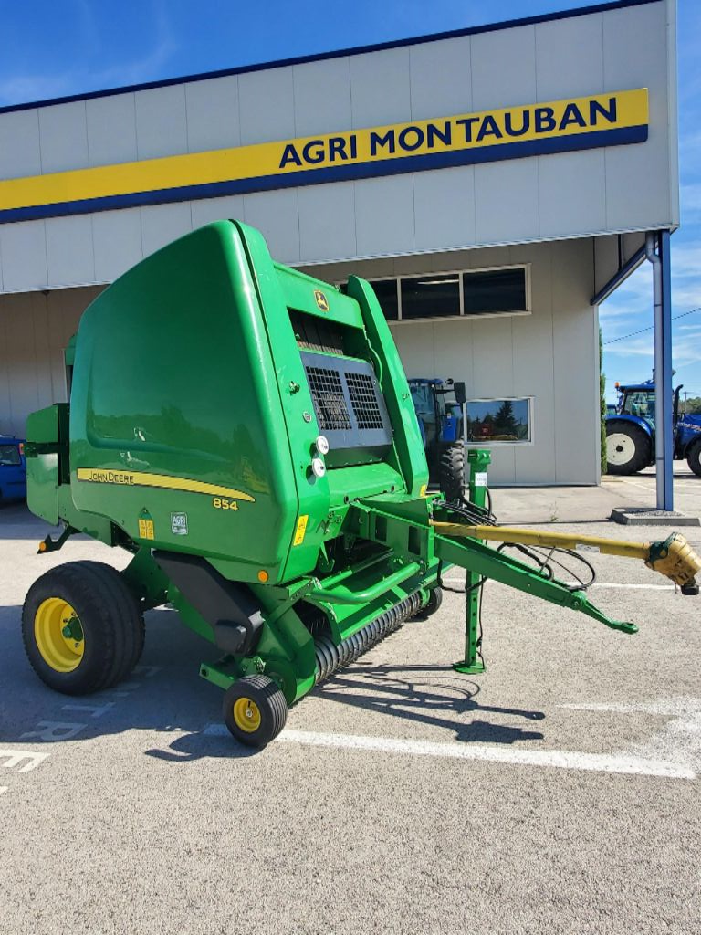
M 0 0 L 0 105 L 173 78 L 583 6 L 583 0 Z M 701 4 L 679 0 L 681 228 L 673 314 L 701 306 Z M 647 379 L 650 265 L 601 308 L 608 398 Z M 701 396 L 701 312 L 674 323 L 676 382 Z

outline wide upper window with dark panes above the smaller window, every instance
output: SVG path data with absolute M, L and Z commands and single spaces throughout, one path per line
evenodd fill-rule
M 389 322 L 523 315 L 530 311 L 527 266 L 398 276 L 369 283 Z M 340 288 L 345 292 L 343 285 Z

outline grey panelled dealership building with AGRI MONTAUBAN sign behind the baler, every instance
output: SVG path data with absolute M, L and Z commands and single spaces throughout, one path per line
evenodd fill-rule
M 592 299 L 679 223 L 675 50 L 674 0 L 628 0 L 1 109 L 0 433 L 106 284 L 231 217 L 373 281 L 492 482 L 598 482 Z

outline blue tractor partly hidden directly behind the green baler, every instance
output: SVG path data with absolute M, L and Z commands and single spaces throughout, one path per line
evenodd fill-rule
M 450 503 L 465 490 L 465 383 L 414 378 L 408 381 L 426 449 L 429 479 Z

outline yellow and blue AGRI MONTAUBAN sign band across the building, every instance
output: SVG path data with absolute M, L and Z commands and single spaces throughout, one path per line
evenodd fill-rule
M 144 199 L 153 193 L 164 194 L 158 199 L 151 197 L 151 202 L 178 200 L 197 186 L 209 186 L 209 191 L 202 192 L 205 195 L 218 194 L 216 187 L 222 184 L 233 186 L 232 190 L 258 191 L 413 171 L 416 167 L 465 165 L 514 155 L 641 142 L 647 137 L 647 126 L 648 91 L 638 88 L 235 149 L 100 165 L 0 181 L 0 221 L 14 220 L 22 211 L 27 216 L 40 216 L 39 207 L 45 209 L 41 216 L 51 213 L 47 206 L 76 206 L 92 201 L 93 210 L 111 207 L 104 199 L 148 203 Z M 404 165 L 399 165 L 402 160 Z M 377 165 L 370 170 L 368 166 L 373 164 Z

